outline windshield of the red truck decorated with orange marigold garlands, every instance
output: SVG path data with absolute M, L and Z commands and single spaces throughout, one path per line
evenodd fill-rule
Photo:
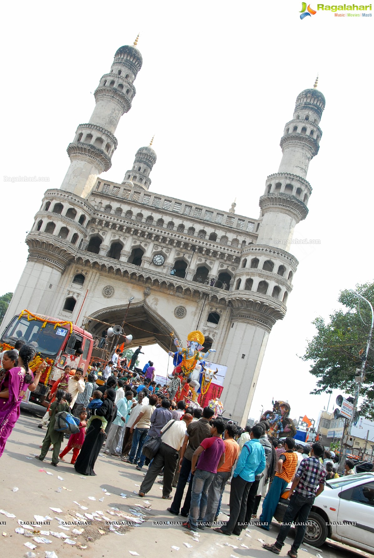
M 21 339 L 26 344 L 35 347 L 37 353 L 42 353 L 45 357 L 55 357 L 66 339 L 67 328 L 54 329 L 54 324 L 46 324 L 42 328 L 43 322 L 39 320 L 28 321 L 26 317 L 18 320 L 14 316 L 7 329 L 4 331 L 1 340 L 3 343 L 14 345 Z

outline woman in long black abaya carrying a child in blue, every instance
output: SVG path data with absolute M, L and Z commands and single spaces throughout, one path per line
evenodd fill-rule
M 104 393 L 104 401 L 101 407 L 96 408 L 95 415 L 105 417 L 108 421 L 106 425 L 105 432 L 108 432 L 112 421 L 115 419 L 116 406 L 115 401 L 115 391 L 114 389 L 107 389 Z M 94 466 L 96 459 L 105 441 L 105 434 L 101 427 L 103 423 L 100 420 L 93 420 L 91 426 L 89 427 L 85 440 L 82 445 L 82 449 L 75 461 L 74 468 L 77 473 L 81 475 L 96 475 L 94 472 Z

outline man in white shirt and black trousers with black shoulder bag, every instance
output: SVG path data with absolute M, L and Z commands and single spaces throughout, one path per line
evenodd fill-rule
M 192 422 L 192 415 L 186 413 L 179 421 L 170 420 L 161 430 L 161 446 L 148 472 L 140 485 L 139 496 L 143 497 L 152 488 L 157 475 L 164 469 L 164 483 L 162 497 L 164 500 L 171 500 L 172 483 L 179 461 L 179 449 L 183 445 L 187 426 Z

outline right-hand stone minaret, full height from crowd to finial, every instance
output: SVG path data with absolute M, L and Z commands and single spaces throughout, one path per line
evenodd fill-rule
M 245 290 L 236 291 L 238 296 L 230 301 L 231 325 L 221 358 L 228 366 L 222 399 L 224 407 L 235 410 L 235 419 L 236 410 L 243 420 L 248 416 L 271 328 L 285 316 L 298 265 L 289 254 L 290 240 L 295 225 L 308 214 L 312 187 L 305 177 L 310 160 L 318 153 L 322 136 L 318 124 L 324 105 L 317 80 L 313 89 L 298 95 L 293 119 L 285 125 L 280 140 L 279 171 L 268 176 L 265 194 L 260 197 L 258 238 L 242 250 L 245 259 L 236 277 Z

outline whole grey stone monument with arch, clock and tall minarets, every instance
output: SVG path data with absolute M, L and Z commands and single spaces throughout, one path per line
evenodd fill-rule
M 290 240 L 308 214 L 306 176 L 325 100 L 317 83 L 298 95 L 258 218 L 237 215 L 235 203 L 223 211 L 163 195 L 157 185 L 150 191 L 152 142 L 136 152 L 122 182 L 105 181 L 115 129 L 131 108 L 142 67 L 135 43 L 116 51 L 90 121 L 79 124 L 67 147 L 62 185 L 45 193 L 4 324 L 27 308 L 101 335 L 127 312 L 134 345 L 157 342 L 166 350 L 174 349 L 174 336 L 184 342 L 200 329 L 205 348 L 217 350 L 215 362 L 228 367 L 225 414 L 245 425 L 271 328 L 292 291 L 298 261 Z

